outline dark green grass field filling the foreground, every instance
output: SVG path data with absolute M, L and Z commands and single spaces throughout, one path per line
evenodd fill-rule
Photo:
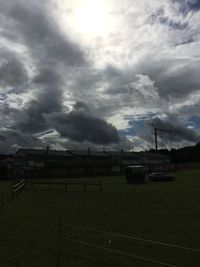
M 79 186 L 23 192 L 0 210 L 0 266 L 58 266 L 58 246 L 60 267 L 200 266 L 200 171 L 175 176 L 142 185 L 95 178 L 102 193 Z M 9 192 L 8 183 L 0 186 Z

